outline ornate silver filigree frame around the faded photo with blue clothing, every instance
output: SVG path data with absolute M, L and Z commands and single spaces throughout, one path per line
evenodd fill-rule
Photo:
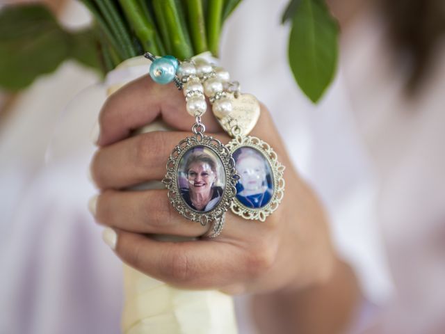
M 273 176 L 273 195 L 267 205 L 260 208 L 246 207 L 238 198 L 232 201 L 231 209 L 234 214 L 246 219 L 265 221 L 280 205 L 284 196 L 284 169 L 285 167 L 278 161 L 277 154 L 265 141 L 254 136 L 236 136 L 227 145 L 230 153 L 233 154 L 238 148 L 248 147 L 259 151 L 268 161 L 272 169 Z

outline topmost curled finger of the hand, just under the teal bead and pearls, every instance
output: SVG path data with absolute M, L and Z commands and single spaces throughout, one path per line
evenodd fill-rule
M 156 84 L 149 75 L 131 81 L 110 95 L 102 107 L 97 145 L 110 145 L 127 138 L 134 129 L 159 117 L 166 125 L 181 131 L 190 131 L 195 122 L 186 111 L 183 93 L 174 84 Z M 202 120 L 209 132 L 220 132 L 211 112 L 205 113 Z

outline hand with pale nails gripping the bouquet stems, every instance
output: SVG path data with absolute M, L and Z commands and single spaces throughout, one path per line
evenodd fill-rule
M 177 131 L 131 136 L 154 120 Z M 298 290 L 327 280 L 334 253 L 323 209 L 293 169 L 280 135 L 264 106 L 252 131 L 269 143 L 286 166 L 282 204 L 265 222 L 247 221 L 227 212 L 216 239 L 156 241 L 152 234 L 199 237 L 209 226 L 188 221 L 170 205 L 167 190 L 128 191 L 129 186 L 162 180 L 177 143 L 190 136 L 193 117 L 172 84 L 160 86 L 147 76 L 131 82 L 104 104 L 99 116 L 99 150 L 92 177 L 102 190 L 96 220 L 118 234 L 116 254 L 149 276 L 177 287 L 221 289 L 228 293 Z M 227 143 L 211 111 L 203 116 L 206 134 Z

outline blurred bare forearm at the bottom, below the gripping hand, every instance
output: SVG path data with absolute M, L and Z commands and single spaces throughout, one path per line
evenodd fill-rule
M 255 295 L 252 312 L 261 334 L 348 333 L 360 296 L 354 272 L 337 260 L 324 282 L 295 292 Z

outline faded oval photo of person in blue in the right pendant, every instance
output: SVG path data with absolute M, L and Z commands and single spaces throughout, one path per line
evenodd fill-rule
M 252 209 L 266 206 L 273 195 L 272 170 L 266 158 L 254 148 L 238 148 L 233 157 L 240 176 L 236 198 Z

